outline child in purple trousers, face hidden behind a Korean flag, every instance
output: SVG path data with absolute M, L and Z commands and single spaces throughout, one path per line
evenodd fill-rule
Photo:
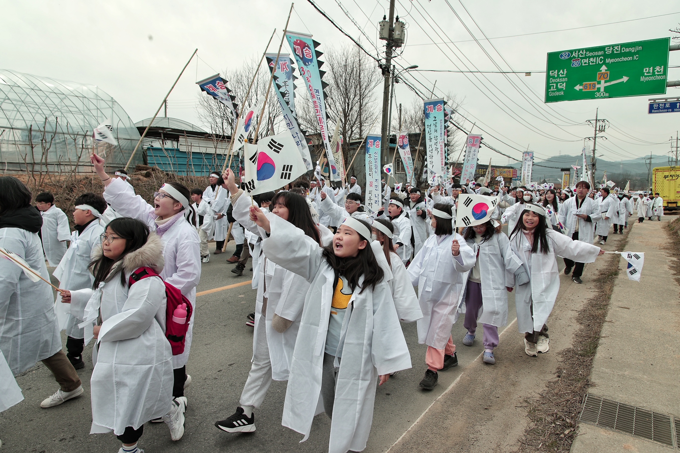
M 500 224 L 489 220 L 465 231 L 465 241 L 477 256 L 475 267 L 467 278 L 465 291 L 465 320 L 467 329 L 463 344 L 472 346 L 477 322 L 483 327 L 484 363 L 494 365 L 494 348 L 498 346 L 498 327 L 508 319 L 508 296 L 513 290 L 511 276 L 522 261 L 513 253 L 510 241 L 500 231 Z M 524 272 L 524 278 L 526 272 Z M 507 290 L 507 291 L 506 291 Z

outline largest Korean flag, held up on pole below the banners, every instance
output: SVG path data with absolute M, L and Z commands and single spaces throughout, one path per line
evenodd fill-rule
M 307 171 L 288 131 L 265 137 L 257 145 L 245 143 L 244 156 L 243 182 L 248 195 L 280 189 Z

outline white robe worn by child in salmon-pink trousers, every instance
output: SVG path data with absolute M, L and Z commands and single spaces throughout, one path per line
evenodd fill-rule
M 443 349 L 451 336 L 451 327 L 458 319 L 466 274 L 475 266 L 475 253 L 458 233 L 432 235 L 415 255 L 408 272 L 411 285 L 418 286 L 418 300 L 423 312 L 418 320 L 418 342 Z M 460 253 L 454 257 L 451 244 L 460 243 Z

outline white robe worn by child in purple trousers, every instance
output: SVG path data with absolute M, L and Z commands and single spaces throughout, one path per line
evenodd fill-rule
M 479 244 L 468 239 L 467 244 L 479 259 L 479 275 L 481 280 L 482 307 L 477 313 L 477 322 L 500 327 L 508 320 L 507 287 L 513 287 L 515 271 L 522 266 L 522 260 L 510 247 L 510 240 L 505 233 L 494 233 L 488 240 Z M 474 266 L 473 266 L 474 267 Z M 466 272 L 464 285 L 471 272 Z M 464 297 L 463 297 L 464 299 Z M 465 304 L 461 304 L 461 312 Z

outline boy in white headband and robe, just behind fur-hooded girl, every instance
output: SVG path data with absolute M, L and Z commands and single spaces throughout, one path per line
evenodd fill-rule
M 62 289 L 91 288 L 95 281 L 90 274 L 88 266 L 92 259 L 92 251 L 101 245 L 101 234 L 104 226 L 99 219 L 106 210 L 106 201 L 101 195 L 90 192 L 82 194 L 75 199 L 73 209 L 73 223 L 75 231 L 71 234 L 71 245 L 66 255 L 61 259 L 59 266 L 54 270 L 54 278 L 59 280 Z M 87 302 L 85 300 L 84 302 Z M 83 320 L 74 316 L 75 312 L 82 312 L 84 306 L 77 308 L 75 304 L 61 303 L 61 296 L 57 295 L 54 302 L 54 311 L 59 321 L 59 327 L 66 329 L 66 357 L 71 361 L 75 369 L 85 366 L 82 352 L 85 347 L 85 332 L 78 324 Z M 88 333 L 88 342 L 92 339 Z

